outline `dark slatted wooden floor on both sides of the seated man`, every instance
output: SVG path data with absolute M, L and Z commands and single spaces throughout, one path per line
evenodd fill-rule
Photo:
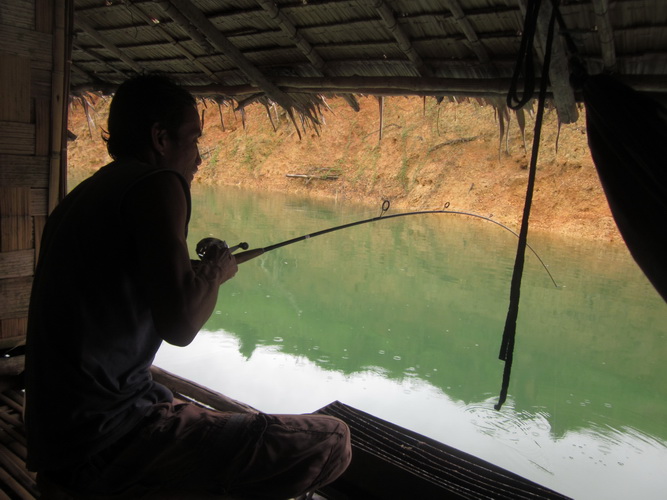
M 225 411 L 256 411 L 191 381 L 158 368 L 153 376 L 175 395 L 205 401 Z M 40 498 L 36 476 L 25 467 L 24 392 L 11 388 L 0 393 L 0 500 Z M 437 443 L 399 426 L 334 402 L 316 413 L 344 420 L 352 431 L 353 460 L 337 481 L 315 498 L 332 500 L 405 500 L 407 498 L 558 499 L 567 497 L 479 458 Z M 210 499 L 172 492 L 151 500 Z

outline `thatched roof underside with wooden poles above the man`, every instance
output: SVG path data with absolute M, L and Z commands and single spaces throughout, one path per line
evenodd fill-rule
M 535 76 L 552 9 L 537 19 Z M 576 120 L 572 57 L 667 92 L 665 0 L 562 0 L 550 93 Z M 161 72 L 199 94 L 308 112 L 321 94 L 504 99 L 533 0 L 74 0 L 71 86 Z M 523 76 L 519 87 L 523 85 Z

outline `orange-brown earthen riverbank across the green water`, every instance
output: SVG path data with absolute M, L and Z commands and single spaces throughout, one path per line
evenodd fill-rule
M 491 106 L 437 104 L 434 99 L 388 98 L 382 140 L 375 98 L 360 98 L 355 112 L 342 99 L 327 101 L 323 124 L 299 139 L 284 113 L 254 104 L 244 113 L 200 105 L 203 162 L 195 182 L 307 194 L 394 210 L 473 212 L 518 229 L 532 148 L 528 117 L 525 147 L 513 115 L 506 140 Z M 70 111 L 72 176 L 82 178 L 109 161 L 101 127 L 106 104 L 88 122 L 80 104 Z M 587 145 L 585 119 L 560 128 L 548 111 L 542 129 L 531 231 L 622 242 Z M 91 132 L 92 131 L 92 132 Z

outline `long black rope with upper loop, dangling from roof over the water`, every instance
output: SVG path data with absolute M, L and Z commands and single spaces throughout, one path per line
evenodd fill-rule
M 516 95 L 516 88 L 519 74 L 521 72 L 521 59 L 524 63 L 524 72 L 526 80 L 534 78 L 533 63 L 532 63 L 532 46 L 533 37 L 536 32 L 537 15 L 540 9 L 541 0 L 529 2 L 526 9 L 526 19 L 524 22 L 523 38 L 521 39 L 521 52 L 519 54 L 520 60 L 515 68 L 515 74 L 512 78 L 512 88 L 507 96 L 507 105 L 512 109 L 520 109 L 525 103 L 532 98 L 531 94 L 525 91 L 530 86 L 526 84 L 524 95 L 519 98 Z M 542 78 L 540 83 L 540 94 L 537 106 L 537 114 L 535 117 L 535 133 L 533 137 L 533 150 L 530 158 L 530 169 L 528 171 L 528 185 L 526 188 L 526 200 L 523 206 L 523 217 L 521 220 L 521 229 L 519 231 L 519 244 L 517 246 L 516 259 L 514 261 L 514 271 L 512 272 L 512 282 L 510 285 L 510 303 L 507 311 L 507 318 L 505 320 L 505 329 L 503 331 L 503 339 L 500 345 L 499 358 L 505 362 L 503 370 L 502 386 L 500 388 L 500 395 L 498 403 L 494 406 L 496 410 L 500 410 L 507 399 L 507 391 L 509 388 L 510 375 L 512 372 L 512 361 L 514 359 L 514 340 L 516 337 L 516 320 L 519 314 L 519 298 L 521 295 L 521 277 L 523 275 L 523 265 L 525 261 L 526 247 L 528 246 L 528 219 L 530 217 L 530 208 L 533 202 L 533 190 L 535 187 L 535 174 L 537 171 L 537 156 L 540 147 L 540 135 L 542 131 L 542 120 L 544 116 L 544 103 L 547 93 L 547 82 L 549 80 L 549 64 L 551 62 L 551 47 L 553 44 L 554 25 L 555 25 L 556 7 L 553 6 L 551 11 L 551 18 L 549 20 L 549 30 L 547 33 L 547 43 L 544 53 L 544 63 L 542 65 Z M 526 37 L 530 36 L 530 40 Z M 531 83 L 531 85 L 533 85 Z M 515 107 L 516 106 L 516 107 Z

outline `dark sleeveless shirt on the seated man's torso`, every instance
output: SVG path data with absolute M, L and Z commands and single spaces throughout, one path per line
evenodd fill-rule
M 49 216 L 26 339 L 28 468 L 75 466 L 172 400 L 149 368 L 162 339 L 137 275 L 124 197 L 139 181 L 180 174 L 116 161 L 79 184 Z

